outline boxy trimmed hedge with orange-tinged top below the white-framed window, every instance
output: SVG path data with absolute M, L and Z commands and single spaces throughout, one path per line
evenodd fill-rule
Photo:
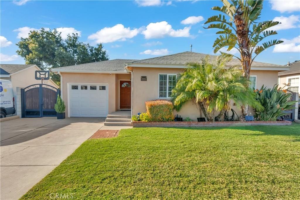
M 173 103 L 168 100 L 146 101 L 149 121 L 173 121 Z

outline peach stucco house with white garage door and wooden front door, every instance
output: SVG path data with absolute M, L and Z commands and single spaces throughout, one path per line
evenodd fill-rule
M 145 102 L 170 99 L 176 85 L 176 75 L 183 72 L 187 62 L 201 62 L 201 58 L 216 56 L 196 52 L 182 52 L 143 60 L 116 59 L 52 69 L 61 75 L 61 94 L 68 117 L 106 117 L 119 109 L 131 109 L 132 115 L 146 112 Z M 228 66 L 240 65 L 233 59 Z M 273 87 L 279 71 L 289 67 L 253 62 L 251 86 Z M 238 109 L 236 109 L 238 111 Z M 174 114 L 177 114 L 174 112 Z M 193 102 L 178 113 L 194 121 L 199 109 Z

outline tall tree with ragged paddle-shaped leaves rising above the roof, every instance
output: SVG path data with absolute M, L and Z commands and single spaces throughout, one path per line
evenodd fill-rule
M 223 2 L 222 7 L 215 6 L 211 9 L 220 11 L 225 15 L 211 16 L 205 22 L 205 24 L 211 23 L 206 28 L 221 29 L 216 33 L 221 35 L 214 41 L 214 53 L 217 53 L 223 47 L 226 47 L 227 51 L 236 48 L 241 56 L 232 56 L 241 61 L 243 76 L 249 79 L 251 64 L 256 56 L 270 46 L 283 42 L 281 40 L 271 40 L 259 44 L 265 37 L 277 34 L 276 31 L 272 31 L 270 28 L 280 24 L 280 22 L 256 22 L 262 11 L 262 0 L 232 0 L 231 3 L 227 0 L 221 1 Z M 229 18 L 229 20 L 226 18 Z M 253 53 L 255 53 L 254 57 L 252 57 Z

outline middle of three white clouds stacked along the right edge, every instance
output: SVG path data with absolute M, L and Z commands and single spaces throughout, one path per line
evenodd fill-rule
M 284 17 L 284 16 L 275 17 L 273 21 L 281 22 L 281 24 L 268 28 L 267 30 L 277 31 L 277 30 L 284 30 L 289 28 L 298 28 L 300 22 L 299 15 L 291 15 L 289 17 Z

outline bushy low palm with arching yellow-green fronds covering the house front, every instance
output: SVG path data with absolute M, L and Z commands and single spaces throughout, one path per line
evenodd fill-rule
M 261 109 L 254 100 L 255 93 L 245 86 L 248 80 L 242 77 L 238 67 L 226 68 L 225 64 L 232 57 L 218 57 L 215 64 L 203 58 L 201 63 L 189 63 L 178 76 L 172 90 L 174 108 L 179 111 L 190 100 L 198 103 L 208 121 L 214 121 L 213 111 L 219 112 L 220 119 L 226 110 L 231 109 L 231 100 L 237 106 L 250 103 Z

